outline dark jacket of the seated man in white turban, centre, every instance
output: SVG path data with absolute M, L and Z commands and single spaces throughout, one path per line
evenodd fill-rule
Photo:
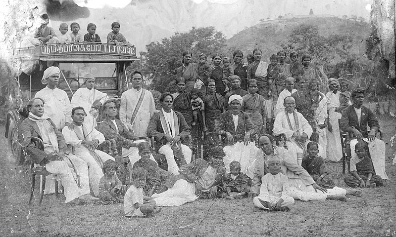
M 238 116 L 239 118 L 237 131 L 235 131 L 234 129 L 232 112 L 226 111 L 220 115 L 219 124 L 215 128 L 215 132 L 217 132 L 217 134 L 224 134 L 225 132 L 230 132 L 231 135 L 234 137 L 235 143 L 244 141 L 244 137 L 247 132 L 250 132 L 250 134 L 254 134 L 254 125 L 253 122 L 250 120 L 249 115 L 243 111 L 240 111 Z

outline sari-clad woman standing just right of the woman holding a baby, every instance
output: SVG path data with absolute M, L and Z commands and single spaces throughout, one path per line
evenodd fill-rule
M 220 115 L 224 112 L 224 98 L 216 93 L 216 82 L 209 79 L 207 82 L 207 93 L 202 98 L 205 104 L 205 118 L 207 132 L 214 132 L 215 120 L 219 120 Z

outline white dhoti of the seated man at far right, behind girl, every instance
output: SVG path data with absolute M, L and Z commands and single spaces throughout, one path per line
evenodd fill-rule
M 368 142 L 367 138 L 363 139 Z M 350 141 L 350 155 L 351 158 L 357 157 L 355 153 L 355 145 L 357 139 Z M 373 167 L 376 175 L 381 176 L 382 179 L 389 179 L 385 171 L 385 143 L 384 141 L 375 138 L 374 141 L 368 143 L 368 150 L 370 152 L 371 160 L 373 161 Z

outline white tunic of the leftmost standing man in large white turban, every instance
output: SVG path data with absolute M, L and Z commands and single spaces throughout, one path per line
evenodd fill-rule
M 44 116 L 49 117 L 56 128 L 63 128 L 65 122 L 71 123 L 71 105 L 64 90 L 52 90 L 46 86 L 38 91 L 35 97 L 44 100 Z

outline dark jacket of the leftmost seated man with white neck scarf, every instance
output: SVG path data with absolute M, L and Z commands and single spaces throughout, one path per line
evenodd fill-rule
M 48 118 L 48 120 L 49 123 L 52 125 L 58 139 L 59 150 L 67 147 L 62 133 L 59 132 L 59 130 L 56 128 L 55 124 L 50 118 Z M 37 148 L 36 145 L 31 141 L 31 137 L 38 137 L 40 139 L 43 139 L 37 123 L 30 120 L 29 118 L 25 118 L 25 120 L 23 120 L 23 122 L 19 126 L 19 142 L 21 146 L 24 147 L 24 150 L 27 152 L 27 155 L 30 156 L 32 162 L 37 164 L 48 163 L 48 159 L 46 158 L 47 153 Z

